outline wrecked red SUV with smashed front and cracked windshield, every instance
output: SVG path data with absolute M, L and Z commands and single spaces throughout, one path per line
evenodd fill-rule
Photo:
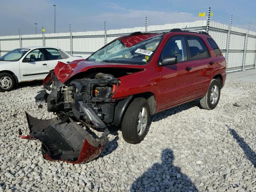
M 85 141 L 104 146 L 107 135 L 95 141 L 82 126 L 121 125 L 124 140 L 138 144 L 146 136 L 150 115 L 198 98 L 202 108 L 214 109 L 225 80 L 225 58 L 208 33 L 135 32 L 86 60 L 58 62 L 43 83 L 51 93 L 42 90 L 36 96 L 58 119 L 26 114 L 30 137 L 42 141 L 45 158 L 79 162 L 81 150 L 88 149 Z M 85 155 L 87 160 L 92 154 Z

